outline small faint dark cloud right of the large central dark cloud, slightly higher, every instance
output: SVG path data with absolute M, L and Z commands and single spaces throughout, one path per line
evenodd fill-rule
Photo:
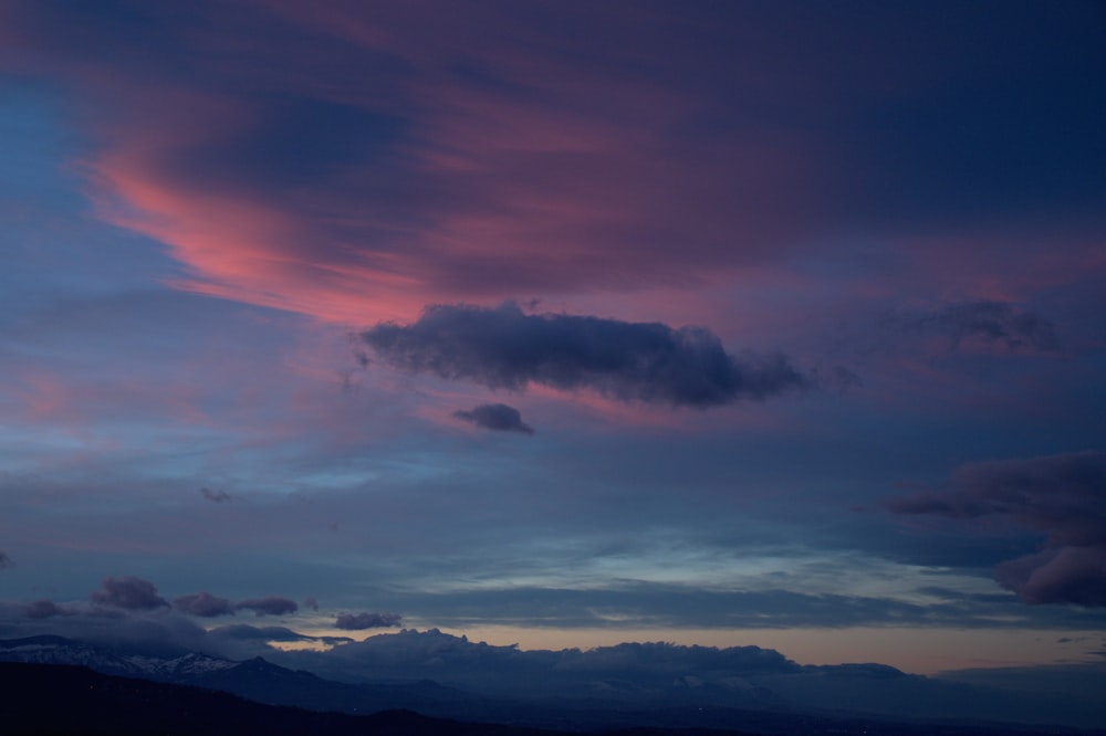
M 949 304 L 924 314 L 899 314 L 890 320 L 905 332 L 943 335 L 953 348 L 966 340 L 1002 344 L 1010 350 L 1057 351 L 1060 341 L 1051 322 L 1009 302 Z

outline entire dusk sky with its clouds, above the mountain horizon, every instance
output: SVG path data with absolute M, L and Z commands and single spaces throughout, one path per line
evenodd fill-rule
M 1102 665 L 1104 72 L 1078 0 L 0 3 L 0 635 Z

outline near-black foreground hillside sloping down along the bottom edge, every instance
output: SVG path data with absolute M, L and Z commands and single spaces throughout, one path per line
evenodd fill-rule
M 86 667 L 0 662 L 0 733 L 77 736 L 159 734 L 220 736 L 312 734 L 314 736 L 554 736 L 557 733 L 509 725 L 461 723 L 410 711 L 369 715 L 320 713 L 263 705 L 227 693 L 94 672 Z M 763 715 L 761 716 L 764 717 Z M 1077 729 L 1016 730 L 968 725 L 939 726 L 820 718 L 780 714 L 757 732 L 650 728 L 593 732 L 604 736 L 749 736 L 751 734 L 844 734 L 883 736 L 968 736 L 1018 733 L 1089 734 Z

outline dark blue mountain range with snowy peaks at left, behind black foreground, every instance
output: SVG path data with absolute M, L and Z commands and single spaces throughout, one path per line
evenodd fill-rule
M 40 695 L 28 694 L 27 697 L 12 698 L 11 702 L 41 703 L 44 696 L 60 697 L 60 685 L 49 684 L 52 676 L 62 683 L 83 682 L 82 677 L 108 677 L 108 681 L 95 681 L 93 688 L 98 687 L 100 694 L 112 693 L 112 697 L 126 698 L 128 693 L 142 703 L 150 698 L 169 697 L 166 693 L 179 688 L 180 697 L 202 698 L 197 693 L 212 694 L 220 691 L 225 694 L 243 698 L 233 701 L 202 701 L 196 707 L 220 709 L 244 709 L 270 706 L 298 708 L 296 713 L 342 713 L 349 716 L 368 714 L 406 712 L 407 721 L 398 730 L 364 730 L 358 732 L 364 724 L 345 722 L 311 725 L 314 716 L 298 715 L 291 721 L 284 716 L 275 716 L 265 712 L 257 715 L 257 724 L 265 723 L 268 718 L 276 718 L 285 723 L 306 719 L 306 730 L 296 733 L 344 734 L 344 733 L 453 733 L 441 723 L 430 727 L 427 723 L 418 725 L 411 721 L 414 714 L 421 718 L 448 719 L 450 723 L 498 724 L 499 727 L 511 727 L 531 733 L 533 729 L 556 732 L 596 732 L 626 728 L 662 728 L 678 729 L 723 729 L 729 733 L 742 734 L 1082 734 L 1076 728 L 1052 726 L 1032 728 L 1011 726 L 1009 724 L 985 723 L 978 718 L 951 718 L 950 712 L 933 714 L 932 717 L 919 717 L 916 713 L 857 713 L 833 707 L 834 697 L 839 697 L 842 687 L 848 685 L 848 680 L 859 679 L 872 687 L 873 700 L 886 698 L 888 693 L 908 692 L 911 687 L 921 693 L 925 701 L 925 686 L 939 687 L 941 696 L 948 701 L 949 694 L 958 694 L 961 698 L 983 697 L 984 690 L 963 684 L 942 683 L 906 675 L 893 667 L 883 665 L 852 665 L 852 667 L 810 669 L 803 672 L 804 687 L 821 686 L 821 701 L 814 706 L 795 707 L 793 704 L 803 701 L 795 694 L 795 686 L 789 691 L 785 686 L 779 692 L 748 682 L 731 683 L 731 687 L 714 683 L 697 682 L 693 675 L 682 681 L 674 681 L 670 691 L 674 695 L 649 700 L 646 697 L 648 687 L 628 681 L 612 681 L 606 684 L 602 695 L 589 696 L 550 692 L 533 692 L 529 697 L 504 695 L 488 695 L 444 685 L 430 680 L 404 683 L 348 683 L 320 677 L 305 670 L 292 670 L 276 665 L 262 658 L 236 662 L 209 656 L 195 652 L 156 652 L 127 651 L 126 649 L 108 648 L 102 644 L 76 641 L 63 637 L 44 635 L 25 639 L 0 640 L 0 662 L 3 665 L 3 680 L 15 682 L 20 687 L 29 687 L 28 683 L 38 682 L 41 685 Z M 25 671 L 12 667 L 29 667 Z M 75 670 L 74 667 L 81 667 Z M 24 674 L 17 675 L 17 672 Z M 33 677 L 27 680 L 25 672 L 32 672 Z M 75 672 L 84 674 L 74 674 Z M 53 673 L 53 674 L 51 674 Z M 124 684 L 115 683 L 119 680 Z M 794 679 L 793 679 L 794 680 Z M 115 684 L 111 684 L 115 683 Z M 125 684 L 131 683 L 131 684 Z M 134 684 L 143 683 L 143 684 Z M 779 680 L 776 685 L 786 684 L 786 679 Z M 843 684 L 844 683 L 844 684 Z M 84 683 L 87 684 L 87 683 Z M 108 686 L 111 684 L 111 686 Z M 149 687 L 168 687 L 169 691 Z M 856 682 L 851 683 L 855 688 Z M 891 685 L 891 688 L 888 688 Z M 919 685 L 921 687 L 919 687 Z M 84 685 L 82 685 L 84 686 Z M 105 690 L 106 688 L 106 690 Z M 897 688 L 897 690 L 896 690 Z M 734 697 L 734 691 L 741 691 L 740 697 Z M 81 691 L 84 693 L 84 691 Z M 8 688 L 11 695 L 11 688 Z M 213 694 L 212 694 L 213 695 Z M 145 700 L 143 700 L 145 698 Z M 805 697 L 805 701 L 811 701 Z M 66 702 L 66 701 L 60 701 Z M 844 702 L 844 701 L 842 701 Z M 137 707 L 137 706 L 136 706 Z M 139 707 L 139 711 L 145 707 Z M 55 708 L 42 707 L 25 709 L 23 717 L 34 719 L 35 714 L 52 713 Z M 103 709 L 103 708 L 102 708 Z M 889 709 L 889 708 L 885 708 Z M 244 712 L 243 711 L 243 712 Z M 107 713 L 109 713 L 108 711 Z M 954 711 L 951 713 L 956 714 Z M 938 717 L 940 716 L 940 717 Z M 212 716 L 213 717 L 213 716 Z M 243 716 L 244 717 L 244 716 Z M 377 721 L 379 715 L 374 716 Z M 398 716 L 393 716 L 398 717 Z M 6 722 L 6 730 L 12 725 Z M 108 718 L 109 719 L 109 718 Z M 156 721 L 156 719 L 155 719 Z M 187 722 L 187 723 L 186 723 Z M 210 729 L 211 719 L 205 723 L 207 727 L 191 732 L 188 722 L 181 722 L 174 733 L 216 733 Z M 17 721 L 18 723 L 18 721 Z M 131 722 L 127 721 L 127 724 Z M 41 733 L 49 724 L 39 723 L 35 733 Z M 61 724 L 61 730 L 70 730 L 73 724 Z M 117 724 L 116 724 L 117 726 Z M 108 724 L 108 730 L 119 732 Z M 156 726 L 156 724 L 155 724 Z M 53 727 L 53 726 L 51 726 Z M 129 726 L 127 726 L 129 727 Z M 152 726 L 153 727 L 153 726 Z M 254 726 L 248 730 L 254 730 Z M 419 732 L 426 727 L 427 730 Z M 452 727 L 452 726 L 450 726 Z M 458 726 L 459 727 L 459 726 Z M 347 730 L 353 728 L 353 730 Z M 410 729 L 415 730 L 410 730 Z M 156 730 L 156 727 L 155 727 Z M 275 732 L 263 728 L 269 733 Z M 31 733 L 11 732 L 11 733 Z M 137 733 L 137 732 L 136 732 Z M 228 732 L 229 733 L 229 732 Z M 233 733 L 244 733 L 242 730 Z M 461 732 L 457 732 L 461 733 Z M 486 732 L 480 732 L 486 733 Z M 521 733 L 521 732 L 520 732 Z M 676 732 L 674 732 L 676 733 Z M 505 734 L 505 732 L 504 732 Z

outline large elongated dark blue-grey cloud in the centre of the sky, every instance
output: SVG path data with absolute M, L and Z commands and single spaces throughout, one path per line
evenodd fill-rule
M 511 302 L 431 306 L 414 324 L 378 324 L 361 337 L 401 370 L 492 389 L 591 388 L 619 401 L 706 409 L 814 387 L 784 356 L 734 357 L 701 327 L 528 315 Z

